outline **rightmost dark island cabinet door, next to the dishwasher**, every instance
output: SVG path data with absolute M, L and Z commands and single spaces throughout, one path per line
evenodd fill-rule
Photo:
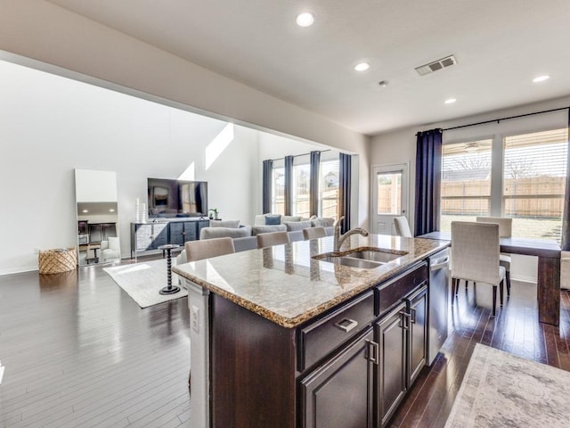
M 428 286 L 424 285 L 411 295 L 410 313 L 410 350 L 408 386 L 416 380 L 419 372 L 426 365 L 428 357 Z

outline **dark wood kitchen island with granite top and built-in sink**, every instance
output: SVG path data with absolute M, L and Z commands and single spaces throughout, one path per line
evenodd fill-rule
M 191 426 L 387 424 L 434 358 L 430 259 L 444 272 L 448 245 L 353 235 L 339 259 L 327 237 L 173 268 L 189 288 Z

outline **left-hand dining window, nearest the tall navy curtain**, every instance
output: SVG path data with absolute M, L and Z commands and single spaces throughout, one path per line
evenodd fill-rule
M 454 220 L 475 221 L 491 212 L 492 140 L 444 144 L 440 230 L 450 232 Z

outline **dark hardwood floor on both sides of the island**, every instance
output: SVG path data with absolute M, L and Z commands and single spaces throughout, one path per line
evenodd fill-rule
M 570 370 L 569 292 L 554 327 L 537 321 L 533 284 L 513 282 L 489 318 L 490 288 L 470 285 L 466 294 L 461 286 L 443 352 L 390 426 L 443 426 L 476 342 Z M 96 266 L 0 276 L 0 426 L 190 426 L 187 305 L 182 298 L 140 309 Z

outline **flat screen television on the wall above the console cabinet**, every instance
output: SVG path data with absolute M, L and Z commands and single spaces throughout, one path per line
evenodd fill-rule
M 208 217 L 208 182 L 148 178 L 149 218 Z

